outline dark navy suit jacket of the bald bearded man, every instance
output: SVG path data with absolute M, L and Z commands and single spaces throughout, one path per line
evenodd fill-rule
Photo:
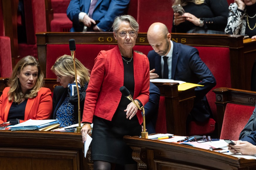
M 155 69 L 155 73 L 162 77 L 161 56 L 152 50 L 148 53 L 148 60 L 150 70 Z M 205 95 L 216 85 L 216 80 L 196 48 L 173 42 L 171 79 L 204 85 L 196 87 L 195 105 L 190 113 L 192 119 L 199 122 L 204 122 L 212 115 Z

